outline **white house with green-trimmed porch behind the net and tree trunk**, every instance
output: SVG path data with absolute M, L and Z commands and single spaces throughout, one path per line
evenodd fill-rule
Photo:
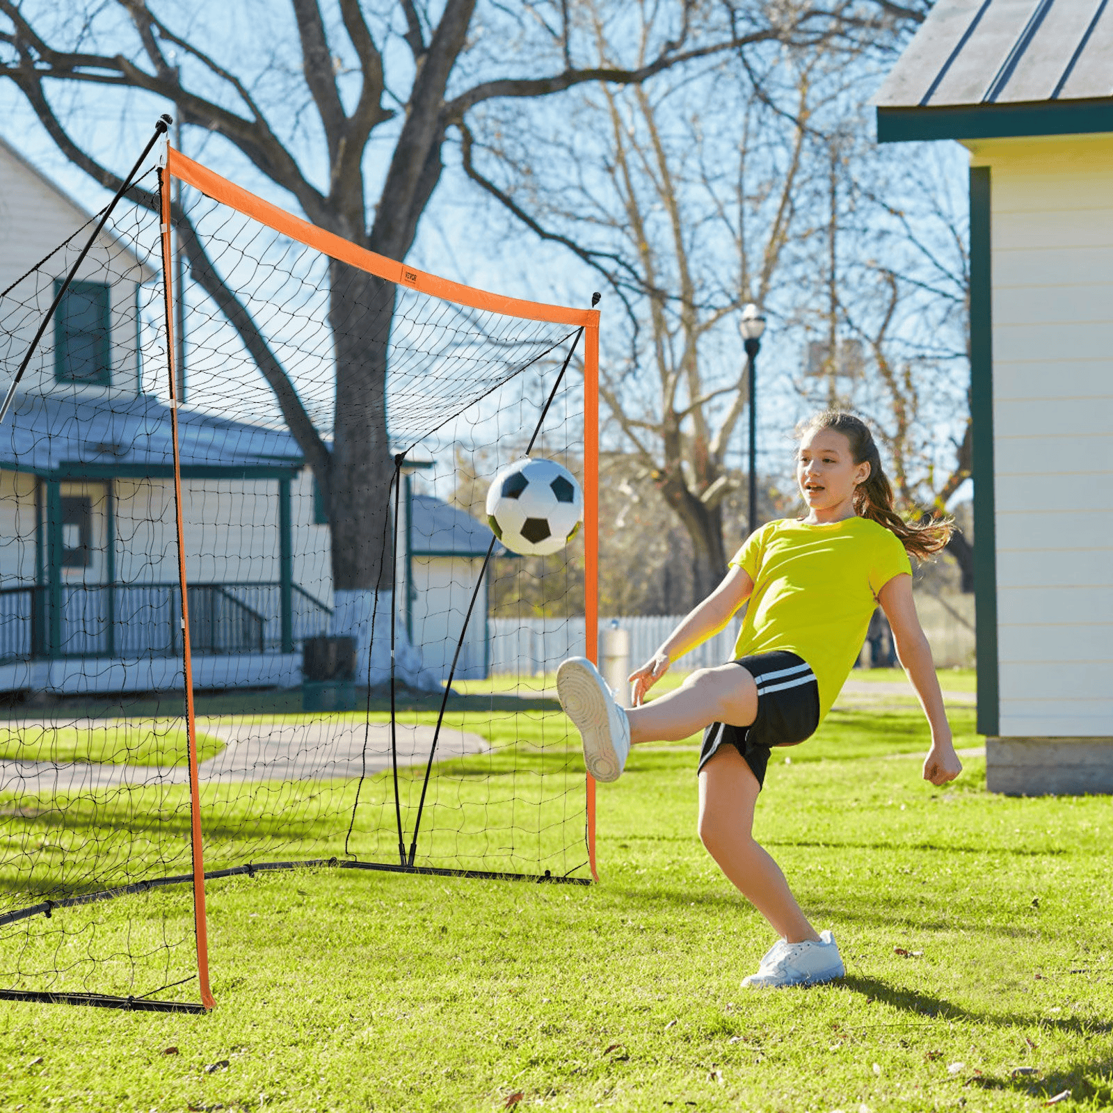
M 0 140 L 0 392 L 89 219 Z M 126 240 L 110 227 L 0 426 L 0 690 L 181 684 L 170 411 L 147 393 L 166 374 L 165 332 L 144 333 L 140 321 L 141 306 L 159 319 L 160 259 L 140 257 L 142 236 Z M 71 246 L 56 252 L 67 235 Z M 313 474 L 285 429 L 188 405 L 178 427 L 195 683 L 295 684 L 301 641 L 328 630 L 333 599 Z M 427 496 L 407 499 L 402 513 L 396 598 L 410 601 L 426 668 L 446 676 L 462 592 L 471 598 L 491 534 Z M 485 674 L 485 646 L 484 585 L 459 676 Z

